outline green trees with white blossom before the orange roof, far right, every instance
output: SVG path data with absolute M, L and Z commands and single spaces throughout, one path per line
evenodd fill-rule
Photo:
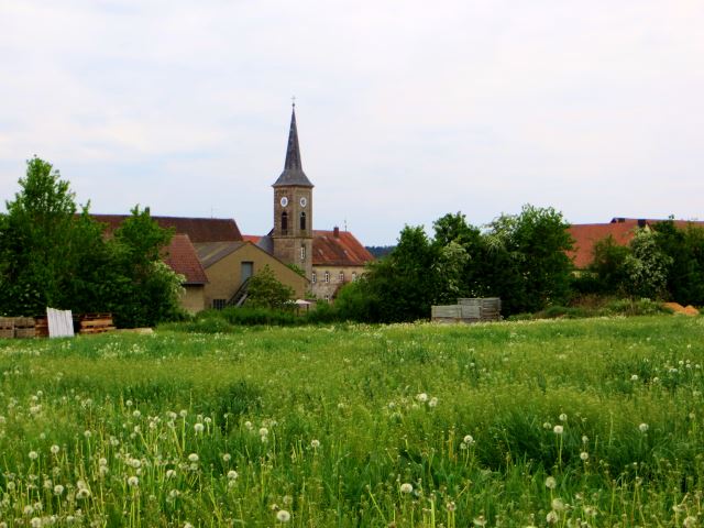
M 574 289 L 704 306 L 704 229 L 670 219 L 638 229 L 626 246 L 612 237 L 598 241 Z

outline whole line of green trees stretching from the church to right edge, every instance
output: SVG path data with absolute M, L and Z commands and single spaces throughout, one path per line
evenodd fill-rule
M 428 237 L 406 227 L 391 253 L 339 294 L 341 319 L 395 322 L 427 319 L 432 305 L 460 297 L 501 297 L 504 316 L 579 304 L 585 296 L 704 305 L 704 229 L 672 220 L 638 229 L 629 245 L 608 238 L 593 264 L 575 271 L 569 224 L 552 208 L 525 206 L 487 229 L 446 215 Z

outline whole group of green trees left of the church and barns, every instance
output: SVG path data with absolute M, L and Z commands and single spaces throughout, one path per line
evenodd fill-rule
M 52 165 L 28 162 L 21 190 L 0 215 L 0 315 L 36 316 L 47 306 L 112 312 L 120 327 L 178 318 L 183 277 L 163 261 L 173 233 L 148 209 L 110 237 L 88 206 L 80 210 Z

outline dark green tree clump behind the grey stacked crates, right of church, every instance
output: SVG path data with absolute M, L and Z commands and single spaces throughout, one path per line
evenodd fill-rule
M 501 297 L 504 315 L 537 311 L 571 296 L 569 224 L 552 208 L 525 206 L 503 215 L 487 230 L 464 215 L 406 227 L 398 244 L 345 286 L 336 300 L 341 318 L 394 322 L 428 318 L 433 304 L 459 297 Z

